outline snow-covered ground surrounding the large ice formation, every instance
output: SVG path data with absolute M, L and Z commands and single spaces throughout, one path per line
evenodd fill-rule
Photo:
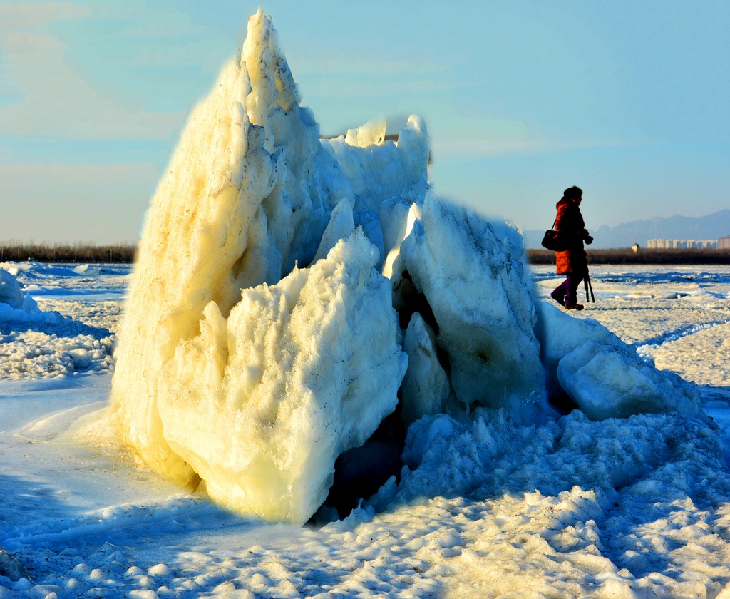
M 3 267 L 39 311 L 0 314 L 0 598 L 730 596 L 726 268 L 594 267 L 596 304 L 574 314 L 694 381 L 719 436 L 671 413 L 426 416 L 441 435 L 399 487 L 294 527 L 119 446 L 105 408 L 130 267 Z M 542 297 L 559 282 L 534 278 Z

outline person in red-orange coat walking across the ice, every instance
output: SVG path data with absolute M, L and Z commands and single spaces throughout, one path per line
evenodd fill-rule
M 550 297 L 566 310 L 583 310 L 583 305 L 577 302 L 576 297 L 580 281 L 588 275 L 588 257 L 583 249 L 583 241 L 593 243 L 593 237 L 585 229 L 580 213 L 582 199 L 583 190 L 573 186 L 564 191 L 563 198 L 556 205 L 558 216 L 555 229 L 566 240 L 568 248 L 556 252 L 556 272 L 565 275 L 565 281 L 553 290 Z

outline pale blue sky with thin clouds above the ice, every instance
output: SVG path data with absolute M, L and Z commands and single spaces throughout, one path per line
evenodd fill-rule
M 547 229 L 730 207 L 730 2 L 0 0 L 0 243 L 136 243 L 259 4 L 324 135 L 409 114 L 437 194 Z M 730 234 L 730 232 L 728 232 Z

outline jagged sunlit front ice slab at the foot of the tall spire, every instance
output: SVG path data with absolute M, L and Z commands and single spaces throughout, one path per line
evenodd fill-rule
M 327 495 L 334 460 L 396 407 L 407 359 L 390 285 L 358 230 L 310 270 L 245 289 L 164 368 L 164 435 L 218 503 L 303 524 Z M 204 414 L 204 430 L 196 430 Z

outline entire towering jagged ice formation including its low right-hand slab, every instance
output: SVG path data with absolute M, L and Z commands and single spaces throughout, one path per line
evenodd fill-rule
M 406 459 L 434 438 L 423 422 L 530 424 L 552 392 L 591 419 L 696 415 L 682 381 L 602 327 L 538 313 L 520 235 L 434 197 L 428 161 L 415 116 L 397 142 L 380 121 L 320 140 L 271 21 L 250 18 L 139 245 L 112 409 L 147 464 L 301 524 L 399 402 L 421 423 Z

